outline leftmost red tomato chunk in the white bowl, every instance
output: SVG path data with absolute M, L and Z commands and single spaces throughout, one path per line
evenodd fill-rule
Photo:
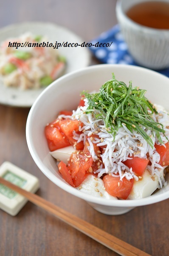
M 45 127 L 45 136 L 50 151 L 70 146 L 68 138 L 59 129 L 57 119 Z

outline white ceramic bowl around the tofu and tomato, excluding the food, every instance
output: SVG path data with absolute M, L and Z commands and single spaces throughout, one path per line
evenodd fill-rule
M 55 119 L 59 111 L 77 108 L 82 90 L 98 90 L 105 81 L 112 78 L 112 73 L 115 73 L 116 79 L 127 84 L 132 80 L 133 86 L 147 90 L 146 96 L 149 100 L 169 109 L 169 79 L 166 76 L 142 67 L 128 65 L 91 66 L 62 76 L 41 93 L 28 115 L 26 138 L 35 163 L 52 182 L 72 195 L 84 199 L 99 212 L 119 215 L 136 206 L 153 204 L 169 198 L 169 185 L 155 195 L 139 200 L 111 201 L 84 194 L 66 183 L 59 174 L 56 161 L 49 154 L 44 134 L 45 125 Z

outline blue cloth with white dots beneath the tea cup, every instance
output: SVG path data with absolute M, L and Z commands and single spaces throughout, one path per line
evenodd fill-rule
M 98 38 L 91 41 L 92 44 L 109 43 L 113 41 L 110 47 L 89 47 L 93 55 L 102 63 L 107 64 L 130 64 L 139 66 L 127 50 L 127 44 L 124 42 L 118 25 L 102 33 Z M 169 68 L 157 70 L 157 72 L 169 77 Z

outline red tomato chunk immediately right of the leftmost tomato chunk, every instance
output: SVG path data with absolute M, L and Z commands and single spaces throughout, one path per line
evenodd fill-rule
M 66 135 L 71 145 L 77 143 L 77 140 L 73 139 L 73 131 L 80 134 L 79 125 L 82 125 L 78 120 L 64 119 L 59 122 L 59 127 L 62 132 Z M 81 150 L 84 148 L 83 141 L 76 144 L 76 149 Z

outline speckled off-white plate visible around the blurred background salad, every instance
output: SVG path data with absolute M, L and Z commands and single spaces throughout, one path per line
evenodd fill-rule
M 79 36 L 70 32 L 61 26 L 52 23 L 29 22 L 14 24 L 0 29 L 0 42 L 8 38 L 17 37 L 25 32 L 31 32 L 34 35 L 46 35 L 49 43 L 67 42 L 82 44 Z M 65 74 L 87 67 L 90 64 L 90 52 L 86 47 L 60 47 L 59 54 L 65 56 L 67 67 Z M 20 90 L 18 88 L 5 87 L 0 81 L 0 103 L 18 107 L 31 107 L 35 99 L 42 92 L 37 90 Z

